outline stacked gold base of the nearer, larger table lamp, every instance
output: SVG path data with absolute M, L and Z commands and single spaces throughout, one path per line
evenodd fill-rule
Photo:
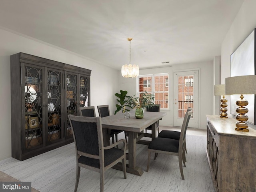
M 241 95 L 240 99 L 236 101 L 236 105 L 239 106 L 236 108 L 236 112 L 239 114 L 236 115 L 236 120 L 238 120 L 238 122 L 236 122 L 235 130 L 248 132 L 248 124 L 245 122 L 248 120 L 248 116 L 245 115 L 248 112 L 248 108 L 245 107 L 248 105 L 248 101 Z

